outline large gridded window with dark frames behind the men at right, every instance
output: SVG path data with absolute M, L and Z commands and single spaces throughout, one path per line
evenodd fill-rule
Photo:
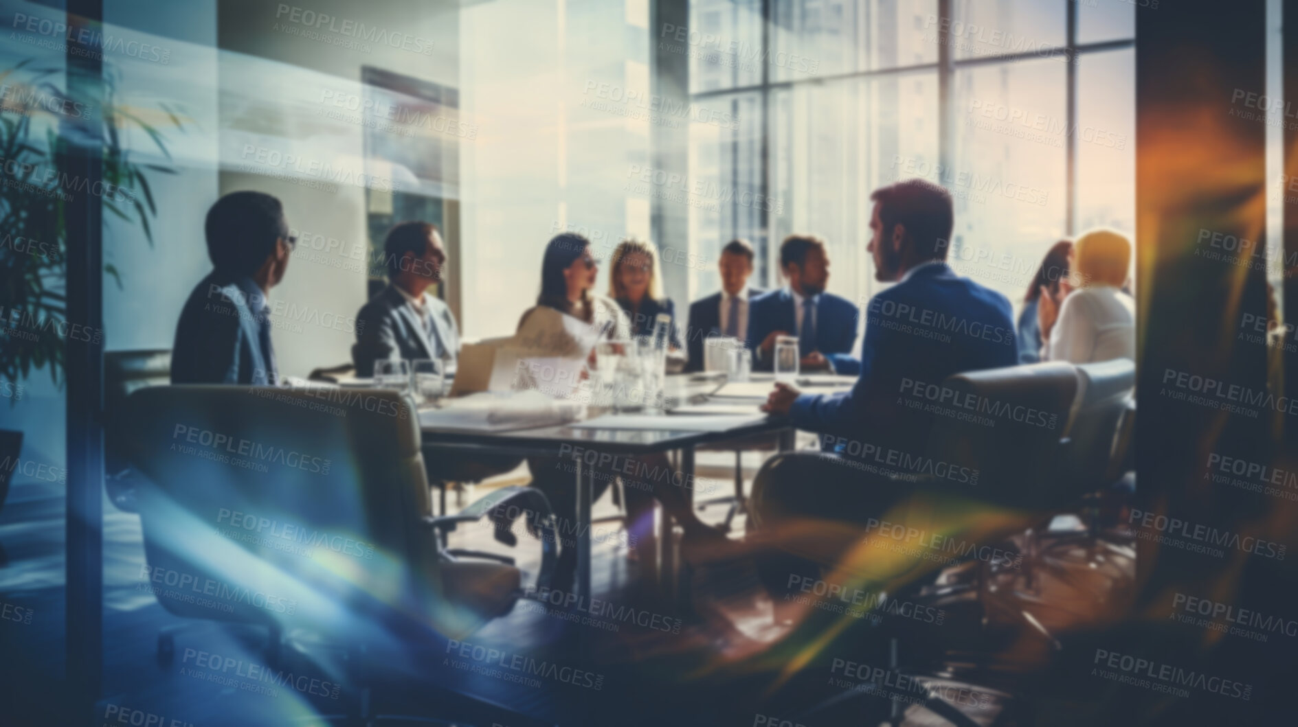
M 819 233 L 863 302 L 870 193 L 915 176 L 955 198 L 953 266 L 1015 302 L 1057 240 L 1134 232 L 1132 4 L 696 0 L 691 31 L 694 102 L 737 117 L 691 133 L 691 176 L 736 192 L 691 211 L 701 259 L 748 237 L 774 286 L 779 240 Z

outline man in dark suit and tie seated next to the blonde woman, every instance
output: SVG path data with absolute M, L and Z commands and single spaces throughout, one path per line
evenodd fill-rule
M 722 290 L 689 305 L 685 345 L 689 363 L 685 371 L 704 371 L 704 341 L 709 336 L 744 338 L 748 334 L 749 301 L 765 293 L 749 288 L 753 275 L 753 245 L 748 240 L 731 240 L 722 248 L 716 263 L 722 272 Z

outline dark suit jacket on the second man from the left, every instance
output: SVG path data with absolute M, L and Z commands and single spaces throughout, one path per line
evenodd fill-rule
M 424 294 L 424 305 L 432 314 L 434 334 L 430 337 L 414 306 L 400 290 L 388 285 L 370 298 L 356 315 L 356 345 L 352 363 L 357 376 L 374 376 L 374 362 L 388 359 L 435 359 L 436 342 L 441 343 L 447 372 L 456 369 L 459 355 L 459 328 L 450 308 L 432 295 Z

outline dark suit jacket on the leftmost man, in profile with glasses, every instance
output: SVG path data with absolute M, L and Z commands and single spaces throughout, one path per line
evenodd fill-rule
M 171 384 L 265 386 L 278 381 L 274 352 L 261 342 L 269 314 L 266 295 L 251 277 L 209 273 L 180 310 Z

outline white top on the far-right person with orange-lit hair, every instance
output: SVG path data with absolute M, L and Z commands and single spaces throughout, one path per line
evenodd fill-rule
M 1041 360 L 1096 363 L 1136 360 L 1136 302 L 1112 285 L 1088 285 L 1068 294 L 1059 320 L 1041 346 Z

